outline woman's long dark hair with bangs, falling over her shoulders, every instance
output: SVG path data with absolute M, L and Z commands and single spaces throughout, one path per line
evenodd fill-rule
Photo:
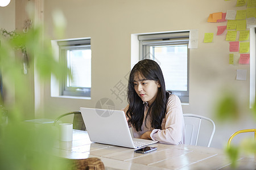
M 142 130 L 141 126 L 144 118 L 144 105 L 141 97 L 138 96 L 134 89 L 134 77 L 139 74 L 148 80 L 155 80 L 160 83 L 156 99 L 148 108 L 145 124 L 147 117 L 150 116 L 151 128 L 162 129 L 161 124 L 166 113 L 166 103 L 170 93 L 166 91 L 166 85 L 160 66 L 151 59 L 143 59 L 142 61 L 139 61 L 131 70 L 127 90 L 129 109 L 126 112 L 126 115 L 129 117 L 128 123 L 133 125 L 137 131 Z

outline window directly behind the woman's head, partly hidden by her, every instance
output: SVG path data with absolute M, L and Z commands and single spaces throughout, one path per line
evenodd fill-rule
M 166 90 L 189 99 L 189 31 L 139 35 L 140 59 L 153 59 L 160 65 Z

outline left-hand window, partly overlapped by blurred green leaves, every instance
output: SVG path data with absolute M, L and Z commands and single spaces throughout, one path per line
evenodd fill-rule
M 60 94 L 63 96 L 90 97 L 92 87 L 90 39 L 58 41 L 60 60 L 71 70 L 61 82 Z

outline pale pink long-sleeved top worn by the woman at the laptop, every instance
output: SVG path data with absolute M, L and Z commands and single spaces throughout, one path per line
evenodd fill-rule
M 144 104 L 144 107 L 145 119 L 148 111 L 147 103 Z M 127 112 L 128 108 L 129 105 L 127 105 L 127 107 L 124 109 L 125 113 Z M 169 99 L 167 101 L 166 115 L 163 118 L 161 125 L 162 130 L 152 129 L 149 117 L 147 117 L 146 125 L 147 128 L 143 120 L 143 124 L 141 127 L 142 131 L 137 131 L 133 126 L 131 126 L 134 138 L 141 137 L 141 135 L 146 131 L 152 131 L 150 137 L 154 141 L 171 145 L 184 144 L 184 118 L 179 97 L 177 97 L 176 95 L 169 96 Z

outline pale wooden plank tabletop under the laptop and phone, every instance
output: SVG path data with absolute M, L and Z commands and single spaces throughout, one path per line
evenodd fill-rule
M 55 153 L 68 159 L 100 158 L 106 169 L 230 169 L 229 159 L 217 148 L 160 143 L 150 146 L 157 150 L 138 154 L 131 148 L 92 143 L 86 131 L 73 130 L 73 141 L 59 142 Z M 242 169 L 256 169 L 254 158 L 240 158 L 238 162 Z

